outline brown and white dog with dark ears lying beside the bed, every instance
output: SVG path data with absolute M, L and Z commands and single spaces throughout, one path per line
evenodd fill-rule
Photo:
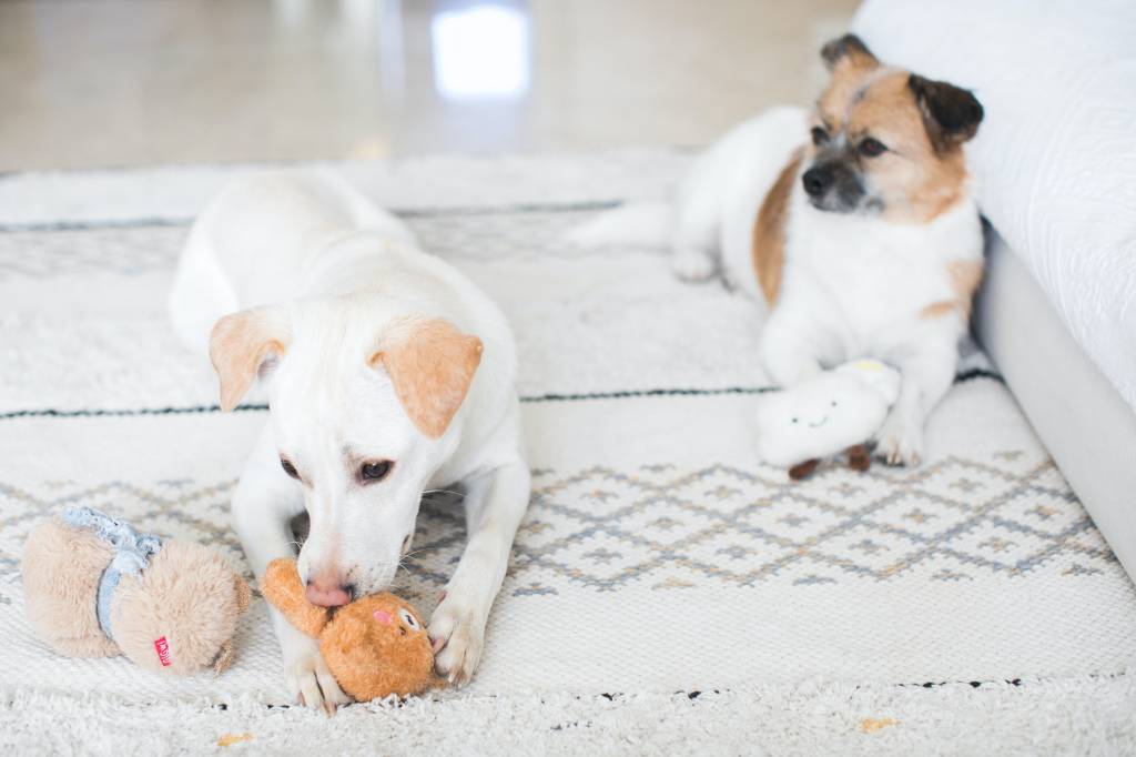
M 767 111 L 698 160 L 669 208 L 674 267 L 690 281 L 720 271 L 767 307 L 761 357 L 780 385 L 857 357 L 897 367 L 880 452 L 917 464 L 982 277 L 962 144 L 983 108 L 880 63 L 854 35 L 821 57 L 832 80 L 811 113 Z M 644 226 L 660 225 L 646 207 L 619 213 L 575 240 L 648 241 Z

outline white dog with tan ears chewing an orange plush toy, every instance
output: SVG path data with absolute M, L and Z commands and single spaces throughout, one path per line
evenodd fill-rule
M 468 543 L 429 634 L 438 672 L 468 680 L 529 497 L 501 311 L 393 216 L 341 182 L 300 174 L 241 180 L 212 201 L 185 246 L 170 311 L 187 343 L 208 341 L 222 409 L 258 374 L 268 380 L 270 421 L 233 498 L 258 576 L 294 554 L 290 522 L 307 511 L 299 571 L 309 600 L 331 607 L 381 591 L 424 492 L 463 486 Z M 301 701 L 346 701 L 316 643 L 275 613 L 274 623 Z

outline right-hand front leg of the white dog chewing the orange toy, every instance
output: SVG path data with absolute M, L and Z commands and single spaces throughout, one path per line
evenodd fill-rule
M 528 507 L 529 483 L 528 467 L 520 460 L 467 483 L 466 550 L 429 622 L 435 666 L 450 683 L 466 683 L 477 668 L 490 609 Z

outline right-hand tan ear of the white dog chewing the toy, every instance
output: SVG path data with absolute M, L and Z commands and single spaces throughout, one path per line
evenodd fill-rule
M 395 325 L 368 360 L 386 369 L 410 421 L 431 439 L 450 426 L 481 361 L 482 340 L 441 318 Z

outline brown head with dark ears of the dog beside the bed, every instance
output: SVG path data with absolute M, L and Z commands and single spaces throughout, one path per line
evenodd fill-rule
M 885 66 L 847 34 L 820 51 L 832 81 L 817 102 L 802 182 L 820 210 L 926 223 L 966 192 L 962 143 L 983 107 L 969 91 Z

